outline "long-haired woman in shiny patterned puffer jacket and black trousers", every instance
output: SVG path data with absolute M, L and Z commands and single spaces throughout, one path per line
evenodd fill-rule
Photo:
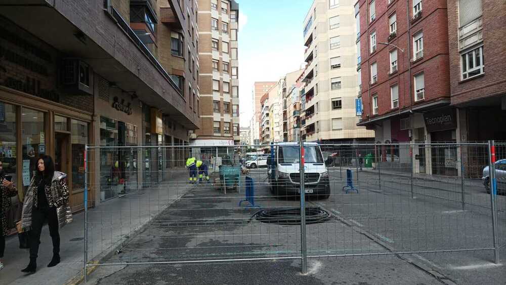
M 58 229 L 66 223 L 64 209 L 68 201 L 66 176 L 64 173 L 55 171 L 51 156 L 40 156 L 37 161 L 37 172 L 31 179 L 23 203 L 21 223 L 23 229 L 29 230 L 30 263 L 21 270 L 22 272 L 33 273 L 37 269 L 40 232 L 46 220 L 53 240 L 53 259 L 48 267 L 60 263 L 60 233 Z

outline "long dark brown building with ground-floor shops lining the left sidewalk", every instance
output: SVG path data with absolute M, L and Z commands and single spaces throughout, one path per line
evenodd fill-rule
M 68 174 L 70 206 L 80 211 L 86 144 L 188 144 L 200 127 L 197 36 L 188 28 L 196 26 L 195 1 L 8 3 L 0 9 L 0 155 L 18 187 L 26 191 L 37 157 L 49 154 Z M 163 181 L 186 155 L 96 151 L 88 196 L 100 203 Z

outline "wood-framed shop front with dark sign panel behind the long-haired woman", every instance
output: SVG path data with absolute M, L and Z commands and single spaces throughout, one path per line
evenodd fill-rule
M 70 206 L 80 211 L 93 95 L 63 88 L 58 70 L 65 55 L 2 17 L 0 38 L 0 160 L 19 190 L 13 205 L 22 201 L 38 157 L 47 154 L 67 174 Z

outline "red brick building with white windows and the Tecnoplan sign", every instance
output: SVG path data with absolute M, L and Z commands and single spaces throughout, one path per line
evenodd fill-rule
M 455 142 L 446 1 L 360 0 L 355 14 L 363 103 L 358 125 L 374 130 L 379 143 Z M 445 165 L 439 160 L 446 154 L 438 151 L 415 149 L 415 171 L 456 175 L 456 164 L 435 167 Z M 456 150 L 450 152 L 456 159 Z M 395 146 L 380 154 L 382 161 L 410 163 L 410 155 Z

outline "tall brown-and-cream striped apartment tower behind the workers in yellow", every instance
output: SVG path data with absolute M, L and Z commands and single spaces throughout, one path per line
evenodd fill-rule
M 233 0 L 198 1 L 201 128 L 192 146 L 239 144 L 238 11 Z

